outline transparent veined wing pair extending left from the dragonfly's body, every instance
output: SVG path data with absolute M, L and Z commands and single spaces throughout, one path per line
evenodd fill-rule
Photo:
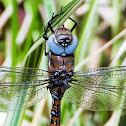
M 0 67 L 0 111 L 31 106 L 47 95 L 48 72 L 23 67 Z

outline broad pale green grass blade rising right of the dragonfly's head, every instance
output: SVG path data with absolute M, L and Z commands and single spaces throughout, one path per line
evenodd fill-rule
M 92 34 L 92 26 L 94 24 L 93 21 L 95 20 L 96 7 L 97 0 L 92 0 L 89 12 L 86 19 L 84 20 L 84 28 L 80 32 L 81 38 L 79 39 L 79 44 L 75 54 L 76 64 L 82 61 L 86 56 L 86 52 L 88 50 L 87 44 L 89 42 L 90 35 Z

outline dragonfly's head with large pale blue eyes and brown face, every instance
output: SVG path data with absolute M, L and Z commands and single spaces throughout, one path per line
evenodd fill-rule
M 56 55 L 72 54 L 78 44 L 77 37 L 67 28 L 58 28 L 48 39 L 48 45 Z

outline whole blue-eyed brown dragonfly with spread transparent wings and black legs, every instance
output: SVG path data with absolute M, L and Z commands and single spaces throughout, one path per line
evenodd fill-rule
M 52 108 L 49 126 L 60 126 L 62 97 L 91 111 L 126 108 L 126 66 L 101 67 L 74 72 L 74 51 L 78 40 L 64 26 L 53 30 L 53 15 L 44 28 L 48 43 L 48 70 L 26 67 L 0 67 L 0 111 L 19 110 L 44 99 L 50 91 Z M 48 38 L 47 31 L 52 35 Z M 17 102 L 18 99 L 18 102 Z

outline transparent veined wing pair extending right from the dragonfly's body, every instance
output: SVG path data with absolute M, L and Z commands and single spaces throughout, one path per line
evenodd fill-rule
M 126 67 L 102 67 L 75 72 L 64 97 L 88 110 L 126 108 Z

